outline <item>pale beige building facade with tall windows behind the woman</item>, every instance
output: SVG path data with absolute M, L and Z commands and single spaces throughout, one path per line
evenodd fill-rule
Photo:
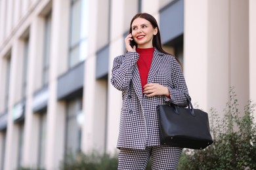
M 0 0 L 0 169 L 117 152 L 111 69 L 137 12 L 158 20 L 192 103 L 222 114 L 232 86 L 256 101 L 254 0 Z

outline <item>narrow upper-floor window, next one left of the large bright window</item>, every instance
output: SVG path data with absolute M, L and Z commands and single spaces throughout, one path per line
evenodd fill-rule
M 43 49 L 43 86 L 49 82 L 49 56 L 51 52 L 51 13 L 45 18 L 45 37 Z

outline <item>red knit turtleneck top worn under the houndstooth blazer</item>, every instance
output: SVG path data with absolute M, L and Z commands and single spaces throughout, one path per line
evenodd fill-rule
M 139 53 L 139 59 L 137 61 L 139 73 L 140 73 L 140 81 L 143 87 L 146 85 L 146 81 L 148 79 L 148 72 L 150 71 L 150 65 L 153 58 L 154 47 L 152 48 L 137 48 L 137 52 Z

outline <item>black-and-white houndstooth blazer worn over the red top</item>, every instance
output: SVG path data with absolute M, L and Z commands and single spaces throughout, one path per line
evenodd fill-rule
M 147 97 L 142 93 L 138 59 L 137 52 L 127 52 L 114 59 L 111 83 L 122 92 L 123 99 L 117 148 L 144 149 L 160 145 L 157 106 L 170 103 L 187 106 L 188 89 L 181 66 L 173 56 L 155 48 L 147 80 L 166 86 L 171 99 L 163 95 Z

